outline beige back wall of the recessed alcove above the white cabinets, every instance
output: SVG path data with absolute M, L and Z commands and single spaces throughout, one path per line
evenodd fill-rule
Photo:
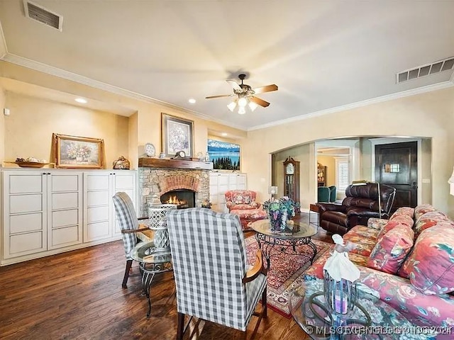
M 128 118 L 6 92 L 5 157 L 51 159 L 52 133 L 102 138 L 106 169 L 120 156 L 128 158 Z M 8 164 L 5 164 L 8 165 Z M 15 166 L 15 165 L 13 165 Z

